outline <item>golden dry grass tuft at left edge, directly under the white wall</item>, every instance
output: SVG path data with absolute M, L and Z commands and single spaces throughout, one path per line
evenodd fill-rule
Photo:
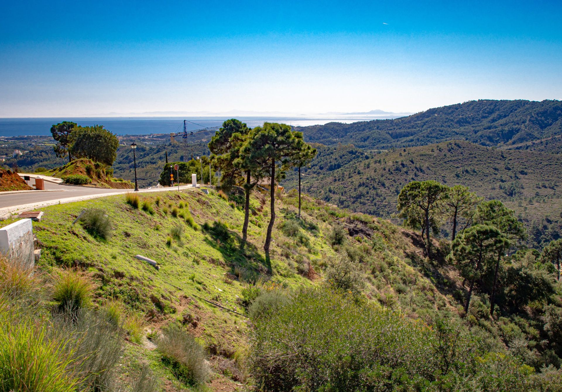
M 33 298 L 39 291 L 40 281 L 32 273 L 31 265 L 0 254 L 0 292 L 8 298 Z

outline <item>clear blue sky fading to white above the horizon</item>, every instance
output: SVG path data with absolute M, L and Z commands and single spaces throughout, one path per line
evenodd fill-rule
M 562 1 L 4 1 L 0 116 L 562 99 Z

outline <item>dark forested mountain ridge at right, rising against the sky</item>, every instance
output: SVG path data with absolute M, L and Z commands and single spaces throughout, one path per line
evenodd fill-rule
M 562 132 L 560 101 L 478 100 L 393 120 L 298 127 L 307 142 L 353 143 L 368 150 L 464 139 L 483 146 L 515 145 Z

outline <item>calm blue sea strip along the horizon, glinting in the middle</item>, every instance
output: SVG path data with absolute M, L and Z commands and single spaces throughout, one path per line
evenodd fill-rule
M 263 125 L 265 121 L 273 123 L 285 123 L 293 126 L 304 127 L 306 125 L 326 124 L 332 121 L 339 123 L 354 123 L 355 121 L 369 121 L 388 117 L 354 117 L 354 118 L 262 118 L 241 117 L 239 120 L 248 124 L 248 127 Z M 0 118 L 0 136 L 30 136 L 50 135 L 51 125 L 61 121 L 74 121 L 78 125 L 105 125 L 106 129 L 117 135 L 138 135 L 150 133 L 173 133 L 183 130 L 183 120 L 193 121 L 188 124 L 188 129 L 199 129 L 203 127 L 215 127 L 221 125 L 226 118 L 222 117 L 90 117 L 90 118 Z

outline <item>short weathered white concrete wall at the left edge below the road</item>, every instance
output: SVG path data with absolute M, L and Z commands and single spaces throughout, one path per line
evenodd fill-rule
M 33 266 L 35 264 L 33 250 L 31 219 L 20 219 L 0 228 L 0 252 Z

